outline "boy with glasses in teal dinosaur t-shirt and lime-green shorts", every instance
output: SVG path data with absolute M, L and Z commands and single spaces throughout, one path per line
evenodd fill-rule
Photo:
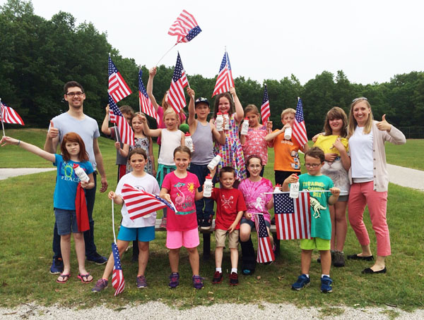
M 331 293 L 330 278 L 331 268 L 331 219 L 328 209 L 329 205 L 337 202 L 340 190 L 333 187 L 333 181 L 321 173 L 324 164 L 324 152 L 319 147 L 313 147 L 305 153 L 305 166 L 307 173 L 300 176 L 292 174 L 284 180 L 282 190 L 288 191 L 290 183 L 300 183 L 299 190 L 330 190 L 330 192 L 310 192 L 311 204 L 311 237 L 312 239 L 300 240 L 302 249 L 302 274 L 298 281 L 293 283 L 293 290 L 300 290 L 310 284 L 310 265 L 312 250 L 317 249 L 321 254 L 321 292 Z

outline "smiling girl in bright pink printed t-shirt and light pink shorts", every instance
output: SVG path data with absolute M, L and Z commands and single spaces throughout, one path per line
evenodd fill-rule
M 174 150 L 174 161 L 177 169 L 168 173 L 163 179 L 160 197 L 172 201 L 176 212 L 168 211 L 166 225 L 166 247 L 170 250 L 170 288 L 179 285 L 179 248 L 186 247 L 193 271 L 193 286 L 196 289 L 204 287 L 203 278 L 199 276 L 199 233 L 197 231 L 196 200 L 203 197 L 199 192 L 199 179 L 187 171 L 192 160 L 188 147 L 177 147 Z

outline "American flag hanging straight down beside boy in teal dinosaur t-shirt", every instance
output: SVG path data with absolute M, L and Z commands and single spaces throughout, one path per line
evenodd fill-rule
M 299 192 L 295 199 L 290 198 L 288 193 L 274 194 L 273 201 L 277 239 L 310 239 L 310 193 Z

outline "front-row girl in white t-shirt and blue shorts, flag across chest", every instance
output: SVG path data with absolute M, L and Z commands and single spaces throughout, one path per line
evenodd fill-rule
M 149 242 L 155 239 L 156 212 L 146 216 L 141 216 L 136 219 L 131 219 L 129 211 L 126 208 L 126 204 L 124 203 L 124 199 L 122 197 L 122 188 L 126 184 L 131 185 L 131 187 L 135 187 L 136 189 L 144 190 L 153 195 L 159 194 L 160 190 L 158 182 L 155 180 L 155 178 L 153 178 L 153 176 L 144 171 L 144 167 L 146 166 L 147 161 L 148 157 L 146 151 L 141 148 L 131 150 L 129 153 L 129 163 L 131 164 L 133 171 L 123 176 L 121 180 L 119 180 L 115 192 L 110 191 L 108 195 L 109 199 L 113 199 L 115 204 L 122 204 L 122 223 L 117 238 L 119 257 L 122 257 L 122 253 L 126 250 L 130 241 L 134 241 L 136 239 L 139 240 L 140 253 L 139 271 L 136 278 L 137 288 L 147 287 L 147 281 L 144 274 L 148 262 Z M 91 289 L 93 293 L 100 293 L 100 291 L 107 288 L 108 279 L 110 273 L 112 273 L 113 266 L 113 254 L 110 254 L 102 278 L 100 278 L 95 284 L 94 288 Z

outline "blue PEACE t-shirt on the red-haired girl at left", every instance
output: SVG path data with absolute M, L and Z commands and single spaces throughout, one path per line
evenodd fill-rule
M 75 210 L 76 187 L 80 179 L 73 171 L 73 164 L 78 164 L 87 174 L 93 173 L 90 161 L 64 161 L 60 154 L 54 154 L 54 164 L 57 166 L 56 187 L 54 187 L 53 206 L 57 209 Z

